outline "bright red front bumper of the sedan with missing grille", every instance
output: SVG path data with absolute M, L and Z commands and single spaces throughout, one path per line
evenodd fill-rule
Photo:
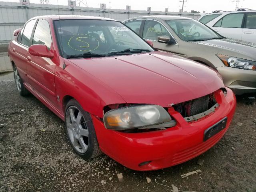
M 176 125 L 162 129 L 154 125 L 145 129 L 113 130 L 106 128 L 103 119 L 92 116 L 100 149 L 120 164 L 134 170 L 166 168 L 206 152 L 223 137 L 230 126 L 236 98 L 229 88 L 221 88 L 202 97 L 164 108 L 172 120 L 176 121 Z M 117 111 L 129 106 L 140 105 L 108 105 L 104 108 L 104 115 L 111 110 Z M 208 113 L 212 108 L 214 110 Z M 203 114 L 197 116 L 200 113 Z M 191 120 L 186 120 L 190 116 Z M 126 116 L 125 119 L 129 118 Z M 223 120 L 224 127 L 211 131 Z

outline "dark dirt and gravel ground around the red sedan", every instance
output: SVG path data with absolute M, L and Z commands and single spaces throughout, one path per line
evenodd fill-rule
M 34 96 L 20 96 L 8 78 L 0 78 L 0 191 L 160 192 L 172 191 L 172 184 L 179 191 L 256 191 L 256 100 L 248 99 L 256 94 L 237 97 L 230 128 L 206 153 L 174 167 L 138 172 L 106 155 L 85 161 L 74 154 L 64 122 Z M 198 160 L 204 160 L 202 166 Z M 198 169 L 199 174 L 180 176 Z

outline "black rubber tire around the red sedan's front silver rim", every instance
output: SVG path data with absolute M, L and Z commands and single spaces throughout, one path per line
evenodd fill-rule
M 75 100 L 75 99 L 71 99 L 67 104 L 66 104 L 66 108 L 65 108 L 65 125 L 66 125 L 66 115 L 67 115 L 67 111 L 71 106 L 75 106 L 76 108 L 78 108 L 80 110 L 80 112 L 82 112 L 82 115 L 84 117 L 84 120 L 86 122 L 86 126 L 88 129 L 88 135 L 89 135 L 89 143 L 88 143 L 88 150 L 84 153 L 81 154 L 80 152 L 78 152 L 74 146 L 72 145 L 70 138 L 68 136 L 68 140 L 70 142 L 70 145 L 72 146 L 74 152 L 76 152 L 76 154 L 78 154 L 80 157 L 82 157 L 85 160 L 91 159 L 91 158 L 96 158 L 98 156 L 100 156 L 102 154 L 102 151 L 100 150 L 99 144 L 98 144 L 98 140 L 96 138 L 96 133 L 95 133 L 95 129 L 92 123 L 92 118 L 90 116 L 90 114 L 86 111 L 83 110 L 83 108 L 80 106 L 80 104 Z M 66 125 L 66 133 L 68 135 L 68 128 Z

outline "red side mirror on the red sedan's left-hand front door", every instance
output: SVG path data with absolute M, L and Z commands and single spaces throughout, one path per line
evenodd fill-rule
M 48 57 L 48 58 L 54 57 L 54 53 L 48 50 L 48 47 L 46 45 L 31 45 L 28 48 L 28 52 L 38 57 Z

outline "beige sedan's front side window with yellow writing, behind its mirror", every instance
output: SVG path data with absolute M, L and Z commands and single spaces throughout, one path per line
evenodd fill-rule
M 156 21 L 146 20 L 142 38 L 157 41 L 158 36 L 170 35 L 164 26 Z

